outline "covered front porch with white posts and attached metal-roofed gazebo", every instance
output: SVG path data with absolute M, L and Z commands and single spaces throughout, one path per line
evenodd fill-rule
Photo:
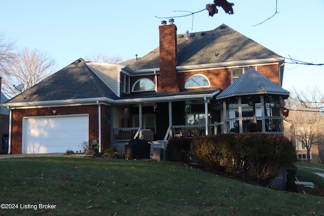
M 288 91 L 252 67 L 221 94 L 219 90 L 147 94 L 114 105 L 111 143 L 123 152 L 136 138 L 147 140 L 151 148 L 165 149 L 175 137 L 284 134 L 279 104 L 288 97 Z

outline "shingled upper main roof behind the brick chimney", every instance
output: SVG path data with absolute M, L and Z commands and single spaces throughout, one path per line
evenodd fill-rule
M 211 31 L 177 35 L 177 66 L 279 58 L 271 50 L 222 24 Z M 282 58 L 282 57 L 281 57 Z M 159 68 L 159 47 L 128 64 L 135 70 Z

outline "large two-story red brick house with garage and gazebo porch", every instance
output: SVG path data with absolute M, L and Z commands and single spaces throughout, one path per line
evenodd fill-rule
M 84 141 L 123 152 L 136 137 L 165 148 L 170 137 L 282 134 L 274 104 L 289 95 L 281 88 L 284 64 L 225 24 L 177 34 L 172 19 L 163 21 L 159 47 L 145 56 L 121 64 L 78 59 L 23 92 L 25 99 L 5 103 L 9 153 L 79 151 Z

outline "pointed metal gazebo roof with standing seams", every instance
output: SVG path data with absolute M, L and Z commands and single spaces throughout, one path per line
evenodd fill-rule
M 281 95 L 289 96 L 289 92 L 282 89 L 275 82 L 271 81 L 253 67 L 250 67 L 244 74 L 230 84 L 216 99 L 224 99 L 236 96 L 248 95 Z

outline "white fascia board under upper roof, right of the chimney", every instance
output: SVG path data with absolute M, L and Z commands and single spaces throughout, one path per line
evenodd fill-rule
M 232 68 L 235 66 L 242 65 L 251 65 L 258 66 L 262 64 L 278 64 L 279 61 L 285 60 L 285 58 L 269 58 L 269 59 L 255 59 L 255 60 L 244 60 L 244 61 L 231 61 L 231 62 L 219 62 L 219 63 L 210 63 L 210 64 L 199 64 L 199 65 L 186 65 L 186 66 L 177 66 L 176 69 L 178 72 L 185 72 L 188 70 L 205 70 L 206 68 Z

